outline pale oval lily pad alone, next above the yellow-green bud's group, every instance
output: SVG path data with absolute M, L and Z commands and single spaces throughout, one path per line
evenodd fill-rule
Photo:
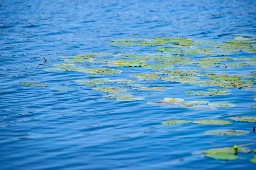
M 222 129 L 222 130 L 211 130 L 207 131 L 205 135 L 214 135 L 214 136 L 238 136 L 238 135 L 246 135 L 250 133 L 245 130 L 230 130 L 230 129 Z

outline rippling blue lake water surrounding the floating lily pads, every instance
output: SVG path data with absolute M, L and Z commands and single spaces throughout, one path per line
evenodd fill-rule
M 255 142 L 252 123 L 232 121 L 232 125 L 187 124 L 164 126 L 162 121 L 185 119 L 228 120 L 229 116 L 255 116 L 255 92 L 232 88 L 229 96 L 195 96 L 183 92 L 201 86 L 163 82 L 143 82 L 131 74 L 146 74 L 144 68 L 123 68 L 122 74 L 94 75 L 92 78 L 133 79 L 168 91 L 137 91 L 145 100 L 118 102 L 102 98 L 104 93 L 74 80 L 90 74 L 74 71 L 44 72 L 64 63 L 61 55 L 92 52 L 155 52 L 156 47 L 118 48 L 108 45 L 119 38 L 192 37 L 195 40 L 232 40 L 233 33 L 256 34 L 256 2 L 253 0 L 173 0 L 173 1 L 7 1 L 0 3 L 0 165 L 2 170 L 56 169 L 255 169 L 253 153 L 239 153 L 236 161 L 218 161 L 192 154 L 215 147 Z M 45 65 L 42 56 L 47 62 Z M 237 53 L 232 57 L 255 57 Z M 109 57 L 111 59 L 111 57 Z M 113 59 L 113 57 L 112 57 Z M 79 63 L 95 68 L 105 64 Z M 116 67 L 115 67 L 116 68 Z M 119 67 L 120 69 L 121 67 Z M 177 65 L 175 69 L 190 68 Z M 195 68 L 198 68 L 195 66 Z M 210 68 L 218 73 L 250 74 L 255 66 Z M 40 82 L 50 87 L 23 86 L 20 82 Z M 161 83 L 161 84 L 160 84 Z M 55 91 L 58 86 L 73 91 Z M 109 83 L 99 87 L 124 84 Z M 204 86 L 205 90 L 207 86 Z M 208 87 L 209 88 L 209 87 Z M 190 100 L 227 101 L 234 108 L 194 111 L 162 108 L 146 102 L 166 97 Z M 249 130 L 244 136 L 206 136 L 215 129 Z M 248 146 L 250 149 L 255 145 Z M 183 161 L 179 161 L 183 159 Z

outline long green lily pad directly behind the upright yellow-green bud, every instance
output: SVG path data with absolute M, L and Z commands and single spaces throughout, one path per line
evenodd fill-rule
M 239 147 L 238 152 L 242 152 L 242 153 L 250 153 L 252 152 L 252 150 L 246 148 L 246 147 Z M 201 153 L 204 154 L 215 154 L 215 153 L 232 153 L 235 154 L 235 150 L 233 149 L 233 147 L 223 147 L 223 148 L 213 148 L 213 149 L 209 149 L 209 150 L 204 150 Z

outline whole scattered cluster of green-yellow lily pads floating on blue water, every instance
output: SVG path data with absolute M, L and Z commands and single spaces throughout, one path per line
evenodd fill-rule
M 254 36 L 256 37 L 256 36 Z M 256 54 L 256 39 L 253 37 L 234 37 L 234 40 L 224 42 L 216 41 L 194 41 L 184 37 L 156 37 L 154 39 L 117 39 L 109 43 L 114 47 L 129 46 L 159 46 L 157 53 L 150 54 L 122 54 L 122 53 L 90 53 L 79 54 L 76 56 L 61 56 L 61 59 L 67 63 L 54 64 L 45 68 L 45 72 L 75 71 L 84 74 L 93 75 L 111 75 L 122 74 L 123 70 L 130 68 L 139 68 L 145 71 L 144 74 L 131 74 L 129 77 L 138 79 L 141 82 L 157 80 L 165 83 L 181 83 L 198 86 L 217 86 L 220 88 L 208 88 L 207 91 L 185 91 L 187 95 L 197 96 L 224 96 L 231 95 L 232 90 L 227 88 L 239 88 L 245 91 L 256 91 L 253 84 L 256 83 L 256 71 L 251 74 L 223 74 L 212 73 L 211 70 L 204 68 L 221 68 L 222 70 L 236 67 L 247 67 L 256 65 L 256 57 L 231 57 L 233 53 Z M 201 57 L 200 59 L 198 59 Z M 196 58 L 196 59 L 194 59 Z M 156 62 L 155 64 L 151 64 Z M 82 65 L 81 65 L 82 64 Z M 101 65 L 96 68 L 90 68 L 91 64 Z M 87 65 L 88 67 L 85 67 Z M 196 69 L 177 69 L 187 66 L 198 67 Z M 110 67 L 110 68 L 108 68 Z M 104 98 L 116 99 L 120 102 L 143 100 L 145 97 L 134 96 L 126 91 L 133 89 L 137 91 L 167 91 L 169 88 L 150 87 L 146 83 L 137 83 L 130 79 L 94 79 L 93 77 L 77 79 L 74 81 L 79 85 L 99 86 L 110 83 L 124 83 L 125 88 L 119 87 L 95 87 L 93 91 L 108 93 Z M 21 85 L 42 86 L 49 85 L 38 82 L 23 82 Z M 226 88 L 226 89 L 221 89 Z M 56 89 L 55 89 L 56 90 Z M 59 88 L 58 91 L 68 91 L 69 88 Z M 254 99 L 256 101 L 256 98 Z M 164 98 L 158 102 L 147 102 L 149 105 L 161 107 L 181 107 L 200 111 L 216 111 L 217 108 L 235 107 L 236 104 L 230 102 L 209 102 L 209 101 L 184 101 L 180 98 Z M 256 109 L 256 106 L 251 108 Z M 230 120 L 239 122 L 256 123 L 255 116 L 237 116 L 230 117 Z M 182 125 L 188 123 L 202 125 L 230 125 L 231 122 L 224 120 L 168 120 L 162 122 L 163 125 Z M 248 131 L 244 130 L 212 130 L 207 131 L 205 135 L 215 136 L 233 136 L 245 135 Z M 238 152 L 248 153 L 247 148 L 238 148 Z M 250 151 L 251 152 L 251 151 Z M 255 152 L 255 151 L 254 151 Z M 205 156 L 221 160 L 235 160 L 233 148 L 215 148 L 202 151 Z M 256 157 L 250 160 L 256 162 Z

